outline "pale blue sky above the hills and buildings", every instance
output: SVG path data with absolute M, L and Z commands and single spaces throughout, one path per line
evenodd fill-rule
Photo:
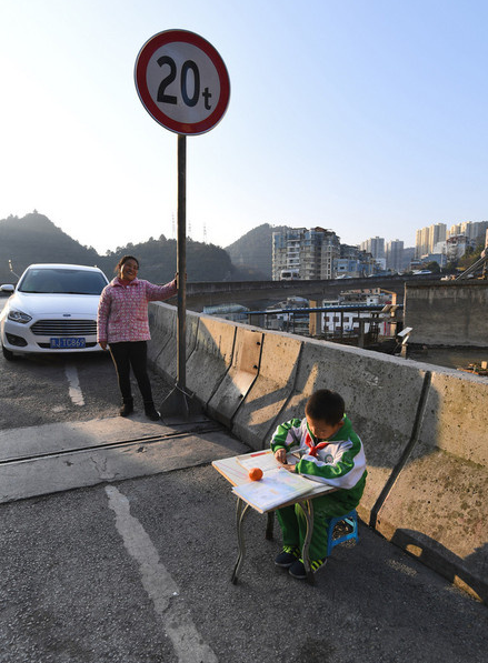
M 488 219 L 486 0 L 0 0 L 0 219 L 37 209 L 101 252 L 173 237 L 177 135 L 133 67 L 176 28 L 231 81 L 187 141 L 193 240 L 268 222 L 414 245 Z

